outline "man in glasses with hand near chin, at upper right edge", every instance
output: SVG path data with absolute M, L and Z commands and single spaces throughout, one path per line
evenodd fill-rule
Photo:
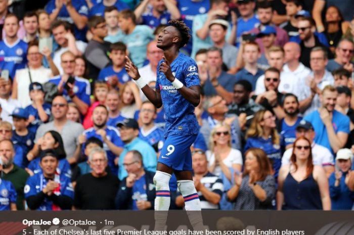
M 333 70 L 344 68 L 349 72 L 353 71 L 351 59 L 354 56 L 354 42 L 352 40 L 348 38 L 341 39 L 338 42 L 335 55 L 335 59 L 328 61 L 327 70 L 332 72 Z

